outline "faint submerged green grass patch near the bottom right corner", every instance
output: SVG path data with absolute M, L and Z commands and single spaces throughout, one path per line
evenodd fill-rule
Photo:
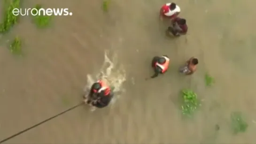
M 234 134 L 245 132 L 248 128 L 247 122 L 242 118 L 242 114 L 239 112 L 233 112 L 231 114 L 231 127 Z

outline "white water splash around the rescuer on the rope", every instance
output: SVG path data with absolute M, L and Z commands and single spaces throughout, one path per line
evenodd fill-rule
M 123 65 L 120 65 L 117 61 L 117 54 L 114 53 L 112 59 L 108 57 L 109 53 L 105 52 L 104 62 L 101 66 L 100 72 L 96 75 L 87 75 L 87 84 L 84 91 L 88 92 L 93 83 L 98 80 L 103 80 L 110 87 L 114 87 L 114 98 L 111 100 L 111 105 L 116 102 L 125 89 L 122 87 L 123 83 L 126 81 L 126 75 Z M 95 109 L 92 109 L 92 111 Z

